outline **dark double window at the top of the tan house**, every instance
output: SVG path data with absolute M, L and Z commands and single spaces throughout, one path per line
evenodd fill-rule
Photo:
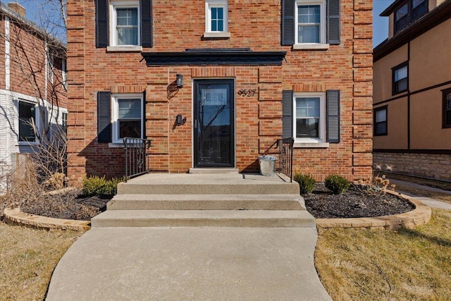
M 395 33 L 428 11 L 428 0 L 407 0 L 395 11 Z

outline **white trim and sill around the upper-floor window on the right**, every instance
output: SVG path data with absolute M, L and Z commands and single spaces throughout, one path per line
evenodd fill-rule
M 319 5 L 320 6 L 320 25 L 319 25 L 319 43 L 299 43 L 298 30 L 299 26 L 297 23 L 297 14 L 299 5 Z M 329 44 L 326 44 L 326 0 L 297 0 L 295 1 L 295 44 L 293 49 L 329 49 Z

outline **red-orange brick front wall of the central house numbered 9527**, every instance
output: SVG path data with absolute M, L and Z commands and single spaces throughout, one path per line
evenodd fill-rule
M 69 176 L 123 174 L 123 150 L 97 143 L 96 95 L 136 86 L 146 91 L 152 170 L 186 172 L 192 167 L 193 78 L 235 78 L 235 92 L 257 89 L 253 97 L 235 94 L 240 171 L 257 171 L 259 154 L 273 152 L 268 148 L 282 133 L 282 90 L 340 90 L 340 143 L 326 149 L 295 149 L 295 168 L 318 180 L 330 173 L 350 179 L 371 176 L 371 8 L 371 1 L 342 0 L 341 44 L 326 51 L 302 51 L 280 46 L 279 0 L 229 1 L 229 39 L 202 37 L 204 0 L 154 0 L 154 47 L 143 51 L 250 47 L 288 54 L 282 66 L 147 67 L 139 52 L 96 49 L 94 1 L 69 0 Z M 168 99 L 167 88 L 176 73 L 184 75 L 184 87 Z M 173 128 L 178 113 L 187 123 Z

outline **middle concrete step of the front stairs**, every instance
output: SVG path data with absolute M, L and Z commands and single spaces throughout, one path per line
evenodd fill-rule
M 116 195 L 108 210 L 305 210 L 300 195 Z

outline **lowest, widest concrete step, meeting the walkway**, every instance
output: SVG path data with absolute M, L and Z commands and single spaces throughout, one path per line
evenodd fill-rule
M 315 228 L 316 223 L 305 210 L 108 210 L 91 226 Z

